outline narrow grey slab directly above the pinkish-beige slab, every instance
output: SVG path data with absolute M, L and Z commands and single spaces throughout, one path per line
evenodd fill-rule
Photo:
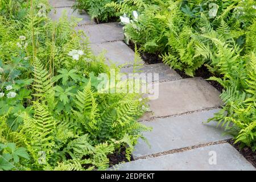
M 122 68 L 121 72 L 122 73 L 133 73 L 134 70 L 133 67 L 129 67 L 129 68 Z M 155 73 L 159 75 L 159 81 L 170 81 L 170 80 L 179 80 L 181 79 L 181 76 L 179 74 L 177 74 L 173 69 L 171 69 L 168 65 L 163 64 L 163 63 L 158 63 L 158 64 L 144 64 L 142 66 L 142 68 L 139 68 L 138 73 L 152 73 L 152 75 L 154 75 Z M 137 73 L 137 72 L 136 72 Z M 151 79 L 152 81 L 157 81 Z M 148 81 L 150 82 L 150 81 Z

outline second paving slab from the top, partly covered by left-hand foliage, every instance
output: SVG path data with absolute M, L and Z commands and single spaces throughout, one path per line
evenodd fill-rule
M 68 19 L 71 19 L 72 16 L 76 18 L 82 18 L 79 22 L 79 25 L 83 24 L 95 24 L 90 18 L 90 16 L 86 13 L 80 14 L 77 10 L 74 11 L 71 7 L 60 7 L 60 8 L 53 8 L 49 13 L 49 17 L 52 20 L 58 21 L 62 16 L 63 13 L 67 14 Z

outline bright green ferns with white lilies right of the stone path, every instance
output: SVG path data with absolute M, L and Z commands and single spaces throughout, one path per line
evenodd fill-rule
M 79 0 L 76 7 L 103 21 L 120 16 L 126 42 L 160 55 L 171 68 L 194 76 L 205 65 L 210 80 L 224 87 L 225 105 L 212 120 L 227 124 L 236 142 L 256 150 L 255 1 L 89 2 Z

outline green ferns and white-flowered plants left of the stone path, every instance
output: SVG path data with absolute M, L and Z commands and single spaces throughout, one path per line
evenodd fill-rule
M 0 170 L 105 169 L 124 147 L 129 160 L 147 130 L 141 96 L 97 92 L 110 68 L 77 19 L 52 22 L 43 0 L 0 4 Z

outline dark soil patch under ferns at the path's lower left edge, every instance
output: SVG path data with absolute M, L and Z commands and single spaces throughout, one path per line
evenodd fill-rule
M 109 158 L 109 165 L 114 166 L 115 164 L 119 164 L 121 162 L 129 162 L 129 160 L 125 156 L 126 154 L 126 147 L 122 147 L 121 150 L 114 151 L 113 154 L 108 155 Z M 133 161 L 134 158 L 131 156 L 131 160 Z

